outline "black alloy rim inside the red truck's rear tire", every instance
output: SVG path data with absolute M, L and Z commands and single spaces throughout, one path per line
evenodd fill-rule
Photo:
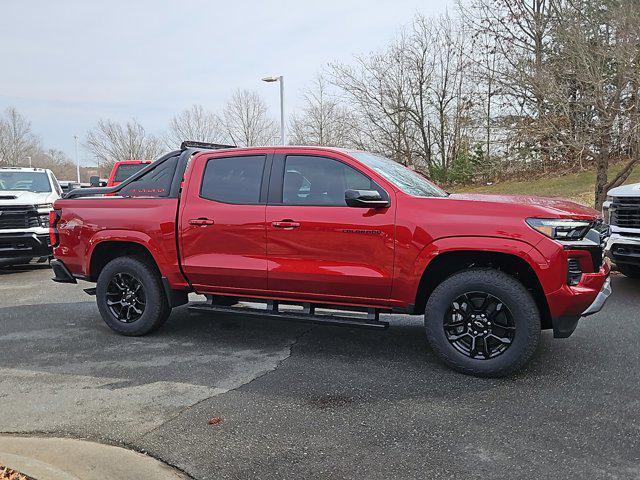
M 129 273 L 116 273 L 107 286 L 107 306 L 120 322 L 138 320 L 146 308 L 146 296 L 140 280 Z

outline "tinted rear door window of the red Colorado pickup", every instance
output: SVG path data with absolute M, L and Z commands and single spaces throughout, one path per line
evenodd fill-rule
M 223 203 L 259 204 L 265 159 L 265 155 L 210 159 L 200 196 Z

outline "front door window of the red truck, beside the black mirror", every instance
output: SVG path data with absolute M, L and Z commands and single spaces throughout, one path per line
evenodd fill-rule
M 370 178 L 349 165 L 326 157 L 289 155 L 285 161 L 282 203 L 346 206 L 344 192 L 371 190 Z

